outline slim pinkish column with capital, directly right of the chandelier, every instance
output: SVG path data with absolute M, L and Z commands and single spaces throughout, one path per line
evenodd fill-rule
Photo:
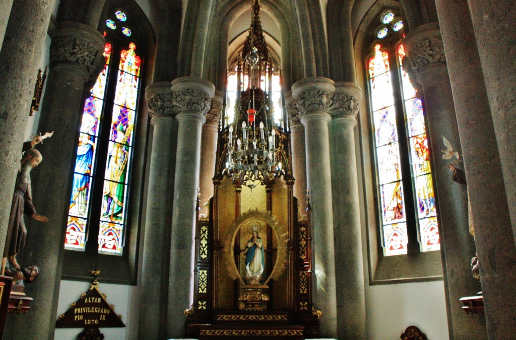
M 299 119 L 299 112 L 292 95 L 288 95 L 286 110 L 291 129 L 292 175 L 294 176 L 294 197 L 297 198 L 297 216 L 299 221 L 307 219 L 307 156 L 305 155 L 304 126 Z

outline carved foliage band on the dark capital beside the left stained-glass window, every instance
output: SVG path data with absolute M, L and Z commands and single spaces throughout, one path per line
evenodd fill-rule
M 102 60 L 102 64 L 104 64 L 102 52 L 90 41 L 76 37 L 58 36 L 52 39 L 50 45 L 50 61 L 77 62 L 86 67 L 88 74 L 92 74 L 98 69 L 99 60 Z

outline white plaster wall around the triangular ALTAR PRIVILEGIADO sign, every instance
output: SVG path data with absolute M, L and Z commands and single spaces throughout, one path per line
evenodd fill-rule
M 123 328 L 101 328 L 106 339 L 133 340 L 138 337 L 138 287 L 120 284 L 102 283 L 102 273 L 99 277 L 101 283 L 99 290 L 106 295 L 109 304 L 115 305 L 115 312 L 122 315 Z M 76 302 L 80 295 L 86 293 L 90 284 L 88 282 L 61 280 L 59 289 L 59 301 L 57 303 L 57 315 L 68 311 L 70 305 Z M 77 334 L 82 332 L 79 328 L 56 328 L 55 340 L 75 340 Z

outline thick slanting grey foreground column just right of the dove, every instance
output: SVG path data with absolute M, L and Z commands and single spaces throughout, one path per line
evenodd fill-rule
M 505 194 L 507 187 L 504 187 L 488 94 L 483 85 L 467 1 L 438 0 L 436 6 L 457 112 L 471 215 L 473 225 L 478 225 L 475 239 L 481 258 L 481 282 L 482 287 L 489 285 L 483 289 L 488 334 L 490 338 L 508 338 L 514 329 L 511 311 L 516 309 L 516 268 L 509 259 L 516 256 L 510 241 L 512 228 Z M 492 263 L 501 265 L 491 266 Z M 455 327 L 460 331 L 456 338 L 486 338 L 486 329 L 479 325 L 480 322 L 469 316 L 467 320 L 469 322 L 464 322 L 462 328 Z

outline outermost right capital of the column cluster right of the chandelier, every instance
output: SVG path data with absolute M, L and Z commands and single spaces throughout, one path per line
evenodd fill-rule
M 357 84 L 339 82 L 335 84 L 329 114 L 333 117 L 351 117 L 356 119 L 359 111 L 362 90 Z

